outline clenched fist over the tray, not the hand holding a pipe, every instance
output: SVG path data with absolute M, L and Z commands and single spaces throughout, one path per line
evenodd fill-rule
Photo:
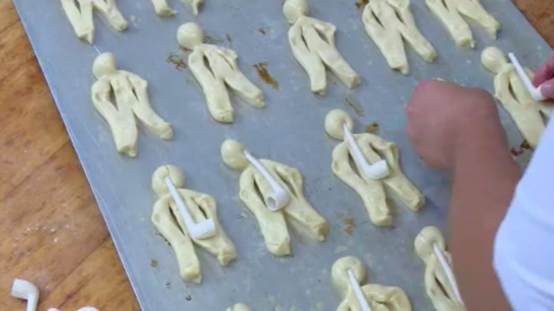
M 406 103 L 406 113 L 415 152 L 436 169 L 452 169 L 457 153 L 472 140 L 503 142 L 496 105 L 481 89 L 422 81 Z

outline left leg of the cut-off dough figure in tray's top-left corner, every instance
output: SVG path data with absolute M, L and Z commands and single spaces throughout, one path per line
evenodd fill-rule
M 92 20 L 93 0 L 61 0 L 62 8 L 73 26 L 73 31 L 79 39 L 85 39 L 92 44 L 94 41 L 94 23 Z M 78 1 L 79 8 L 75 5 Z

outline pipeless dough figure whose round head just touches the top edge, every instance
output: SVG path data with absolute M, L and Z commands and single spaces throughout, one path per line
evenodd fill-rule
M 286 0 L 283 3 L 283 13 L 289 23 L 292 23 L 289 44 L 294 57 L 310 76 L 312 92 L 325 94 L 325 65 L 349 88 L 357 86 L 360 83 L 359 75 L 334 46 L 336 27 L 305 16 L 307 9 L 306 0 Z

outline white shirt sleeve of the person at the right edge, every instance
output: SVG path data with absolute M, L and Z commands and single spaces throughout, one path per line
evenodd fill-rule
M 514 310 L 554 310 L 554 120 L 499 227 L 493 265 Z

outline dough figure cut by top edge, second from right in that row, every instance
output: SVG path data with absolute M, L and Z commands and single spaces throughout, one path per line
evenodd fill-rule
M 433 62 L 437 56 L 433 46 L 415 26 L 409 0 L 371 0 L 364 8 L 361 20 L 388 66 L 404 75 L 409 73 L 409 65 L 402 39 L 427 62 Z

